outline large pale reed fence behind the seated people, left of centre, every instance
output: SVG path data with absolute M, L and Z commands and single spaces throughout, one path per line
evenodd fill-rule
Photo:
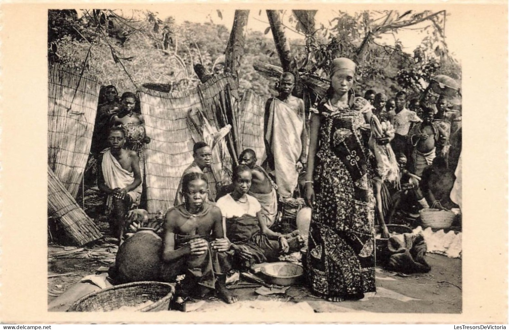
M 220 127 L 215 117 L 217 95 L 227 84 L 236 89 L 235 80 L 224 74 L 185 92 L 163 93 L 149 89 L 139 92 L 145 129 L 152 139 L 145 147 L 147 208 L 151 216 L 173 206 L 182 173 L 193 161 L 192 148 L 198 137 L 189 127 L 188 116 L 197 116 L 201 112 L 218 130 Z M 213 152 L 220 150 L 214 148 Z M 222 169 L 231 164 L 224 152 L 221 157 L 221 162 L 213 162 L 214 172 L 206 173 L 214 195 L 215 184 L 224 179 Z

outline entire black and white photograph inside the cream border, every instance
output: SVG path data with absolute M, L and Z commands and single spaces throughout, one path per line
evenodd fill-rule
M 50 9 L 48 311 L 462 313 L 447 10 Z

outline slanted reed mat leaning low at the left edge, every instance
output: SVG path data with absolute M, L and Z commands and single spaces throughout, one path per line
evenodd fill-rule
M 48 213 L 55 216 L 66 235 L 77 245 L 102 237 L 94 221 L 78 206 L 48 166 Z

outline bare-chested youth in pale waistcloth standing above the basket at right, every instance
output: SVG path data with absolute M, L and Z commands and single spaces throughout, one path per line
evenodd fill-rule
M 437 149 L 441 150 L 447 142 L 447 132 L 433 121 L 434 110 L 425 107 L 422 116 L 423 122 L 416 124 L 408 133 L 408 141 L 413 148 L 412 165 L 419 177 L 432 164 Z

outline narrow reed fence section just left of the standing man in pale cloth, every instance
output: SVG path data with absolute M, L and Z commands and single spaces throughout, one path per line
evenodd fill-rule
M 242 149 L 252 149 L 256 152 L 260 165 L 266 157 L 263 141 L 263 116 L 265 101 L 258 94 L 246 91 L 240 103 L 240 132 Z

